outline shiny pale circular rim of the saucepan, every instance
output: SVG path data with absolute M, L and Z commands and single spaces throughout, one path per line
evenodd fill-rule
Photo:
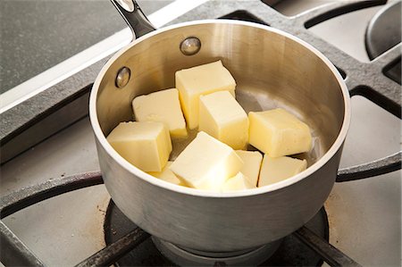
M 322 60 L 322 62 L 325 63 L 330 68 L 332 73 L 335 75 L 335 78 L 338 80 L 339 87 L 341 89 L 341 93 L 343 96 L 343 101 L 344 101 L 344 106 L 345 106 L 344 107 L 344 118 L 342 121 L 342 126 L 339 131 L 338 138 L 336 138 L 335 142 L 332 144 L 330 149 L 325 154 L 323 154 L 322 157 L 317 162 L 315 162 L 313 165 L 309 166 L 305 171 L 302 171 L 289 179 L 284 179 L 280 182 L 274 183 L 272 185 L 264 186 L 262 188 L 252 188 L 252 189 L 233 191 L 233 192 L 212 192 L 212 191 L 201 190 L 201 189 L 196 189 L 196 188 L 186 188 L 186 187 L 182 187 L 182 186 L 175 185 L 170 182 L 164 181 L 163 179 L 155 179 L 154 176 L 148 174 L 145 171 L 141 171 L 136 166 L 134 166 L 131 163 L 129 163 L 128 161 L 126 161 L 107 142 L 105 135 L 104 135 L 102 129 L 100 128 L 100 124 L 99 124 L 99 121 L 97 118 L 97 113 L 96 113 L 97 94 L 98 94 L 100 83 L 105 76 L 105 72 L 109 70 L 109 67 L 114 63 L 114 61 L 117 58 L 119 58 L 121 56 L 121 54 L 124 54 L 132 46 L 136 46 L 138 43 L 147 40 L 147 38 L 151 38 L 155 35 L 158 35 L 165 31 L 169 31 L 171 29 L 178 29 L 181 27 L 187 27 L 187 26 L 191 26 L 191 25 L 200 25 L 200 24 L 233 24 L 233 25 L 242 25 L 242 26 L 272 31 L 274 33 L 285 36 L 286 38 L 290 38 L 290 39 L 294 40 L 301 46 L 306 46 L 306 48 L 308 48 L 311 52 L 313 52 L 316 56 L 318 56 Z M 156 29 L 155 31 L 152 31 L 152 32 L 146 34 L 145 36 L 135 39 L 134 41 L 132 41 L 130 43 L 130 45 L 125 46 L 124 48 L 121 48 L 120 51 L 118 51 L 116 54 L 114 54 L 113 57 L 107 63 L 105 63 L 105 66 L 102 68 L 102 70 L 99 72 L 99 74 L 96 77 L 96 80 L 94 82 L 94 85 L 92 87 L 90 97 L 89 97 L 89 119 L 91 121 L 92 129 L 94 130 L 96 139 L 98 140 L 100 145 L 103 146 L 105 151 L 113 157 L 114 161 L 119 163 L 122 168 L 124 168 L 127 171 L 130 171 L 132 174 L 137 176 L 139 179 L 144 179 L 148 183 L 155 185 L 157 187 L 172 190 L 177 193 L 186 194 L 189 196 L 223 197 L 223 198 L 238 197 L 238 196 L 255 196 L 255 195 L 279 190 L 281 188 L 286 188 L 292 184 L 295 184 L 298 181 L 305 179 L 306 177 L 308 177 L 315 171 L 322 168 L 322 166 L 325 163 L 329 162 L 331 160 L 332 156 L 339 151 L 339 149 L 343 145 L 345 138 L 348 134 L 348 128 L 350 125 L 350 117 L 351 117 L 351 106 L 350 106 L 350 96 L 349 96 L 347 85 L 346 85 L 344 79 L 342 79 L 341 75 L 339 74 L 339 71 L 336 69 L 336 67 L 330 62 L 330 60 L 326 56 L 324 56 L 320 51 L 318 51 L 316 48 L 314 48 L 314 46 L 311 46 L 310 44 L 306 43 L 302 39 L 292 36 L 289 33 L 282 31 L 281 29 L 274 29 L 270 26 L 265 26 L 262 24 L 257 24 L 257 23 L 248 22 L 248 21 L 233 21 L 233 20 L 189 21 L 189 22 L 174 24 L 172 26 L 168 26 L 168 27 L 165 27 L 162 29 Z

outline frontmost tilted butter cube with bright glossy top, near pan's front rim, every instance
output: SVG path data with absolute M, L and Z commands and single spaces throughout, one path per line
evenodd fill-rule
M 200 131 L 172 163 L 171 170 L 188 187 L 219 191 L 242 165 L 230 146 Z

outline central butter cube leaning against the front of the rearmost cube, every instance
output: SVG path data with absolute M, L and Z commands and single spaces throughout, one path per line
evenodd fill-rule
M 228 91 L 199 97 L 199 127 L 233 149 L 244 149 L 248 142 L 248 118 Z

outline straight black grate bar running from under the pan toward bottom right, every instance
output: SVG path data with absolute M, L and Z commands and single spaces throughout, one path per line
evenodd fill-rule
M 315 253 L 320 254 L 325 263 L 331 266 L 361 266 L 349 258 L 348 255 L 343 254 L 338 248 L 317 236 L 312 230 L 306 228 L 306 226 L 297 229 L 293 235 L 306 246 L 313 249 Z

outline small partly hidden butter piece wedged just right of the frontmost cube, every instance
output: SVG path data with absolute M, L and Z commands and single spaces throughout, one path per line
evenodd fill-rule
M 247 177 L 252 185 L 256 186 L 258 175 L 260 174 L 261 162 L 263 161 L 263 155 L 258 151 L 244 150 L 236 150 L 236 154 L 239 155 L 244 163 L 240 172 Z

